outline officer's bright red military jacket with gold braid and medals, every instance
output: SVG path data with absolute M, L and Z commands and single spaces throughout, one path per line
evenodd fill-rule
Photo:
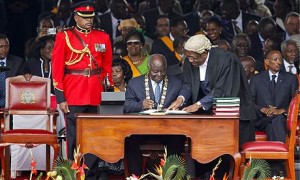
M 108 73 L 111 79 L 112 48 L 109 35 L 101 30 L 92 29 L 83 33 L 74 29 L 88 48 L 67 29 L 56 35 L 52 52 L 52 78 L 57 102 L 67 101 L 69 105 L 98 105 L 103 91 L 102 81 Z M 67 73 L 67 70 L 102 69 L 99 75 Z

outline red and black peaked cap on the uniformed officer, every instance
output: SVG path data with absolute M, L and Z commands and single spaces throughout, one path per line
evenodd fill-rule
M 81 1 L 73 6 L 74 13 L 81 17 L 94 17 L 94 4 L 91 1 Z

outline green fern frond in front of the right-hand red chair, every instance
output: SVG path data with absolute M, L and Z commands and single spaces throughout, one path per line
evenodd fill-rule
M 252 159 L 250 166 L 244 171 L 242 180 L 252 180 L 255 176 L 257 176 L 257 180 L 262 180 L 271 176 L 271 168 L 266 160 Z

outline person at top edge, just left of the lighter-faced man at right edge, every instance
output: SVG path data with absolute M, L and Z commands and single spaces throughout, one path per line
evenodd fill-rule
M 293 2 L 291 0 L 275 0 L 273 20 L 277 25 L 277 33 L 282 33 L 286 29 L 284 27 L 284 20 L 289 12 L 294 10 Z

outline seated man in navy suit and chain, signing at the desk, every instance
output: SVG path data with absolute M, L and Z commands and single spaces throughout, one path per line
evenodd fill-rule
M 163 55 L 151 55 L 148 67 L 149 74 L 129 81 L 125 94 L 125 113 L 136 113 L 153 108 L 165 109 L 176 99 L 181 99 L 184 103 L 189 99 L 191 93 L 183 87 L 181 80 L 166 75 L 167 60 Z M 142 173 L 139 144 L 149 138 L 153 139 L 149 136 L 133 136 L 126 142 L 125 156 L 128 159 L 130 174 Z M 185 136 L 158 136 L 155 139 L 167 145 L 168 155 L 171 155 L 182 152 Z

